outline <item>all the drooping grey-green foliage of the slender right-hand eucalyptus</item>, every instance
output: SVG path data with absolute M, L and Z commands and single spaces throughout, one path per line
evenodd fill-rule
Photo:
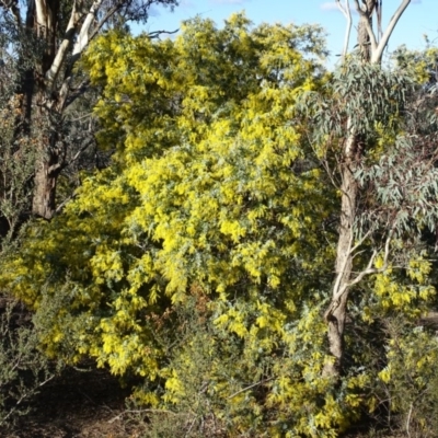
M 353 135 L 359 145 L 353 169 L 360 186 L 358 239 L 370 232 L 380 238 L 418 233 L 438 223 L 438 124 L 429 104 L 434 90 L 427 93 L 412 74 L 350 57 L 325 92 L 303 95 L 301 110 L 313 127 L 310 140 L 320 157 L 326 159 L 331 149 L 338 158 L 327 163 L 334 181 L 341 171 L 335 166 L 345 159 L 344 141 Z

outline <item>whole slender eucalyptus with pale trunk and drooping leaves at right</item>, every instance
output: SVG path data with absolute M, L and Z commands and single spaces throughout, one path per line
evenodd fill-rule
M 430 136 L 420 141 L 406 126 L 405 136 L 399 135 L 408 118 L 410 78 L 381 68 L 383 50 L 411 1 L 400 2 L 384 32 L 381 3 L 354 1 L 359 14 L 359 57 L 355 57 L 348 54 L 350 4 L 337 0 L 347 19 L 343 60 L 333 77 L 330 103 L 320 101 L 323 106 L 315 112 L 314 126 L 320 129 L 315 141 L 323 145 L 323 155 L 328 150 L 336 155 L 338 180 L 334 183 L 341 193 L 335 278 L 324 313 L 332 355 L 325 376 L 337 377 L 343 368 L 347 304 L 354 287 L 371 275 L 383 275 L 395 261 L 408 266 L 407 256 L 400 260 L 403 252 L 408 253 L 401 243 L 403 233 L 433 228 L 438 217 L 431 201 L 437 175 Z

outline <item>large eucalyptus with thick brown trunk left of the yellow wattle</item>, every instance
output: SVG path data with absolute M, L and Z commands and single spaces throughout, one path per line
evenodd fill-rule
M 69 148 L 68 112 L 88 90 L 79 59 L 89 43 L 108 27 L 146 22 L 150 8 L 173 8 L 177 0 L 19 0 L 0 1 L 3 57 L 14 58 L 20 78 L 14 92 L 23 95 L 24 123 L 18 134 L 32 136 L 37 159 L 32 211 L 50 219 L 56 209 L 57 178 L 69 159 L 76 160 L 90 141 Z M 4 62 L 4 61 L 3 61 Z M 84 130 L 81 128 L 81 130 Z M 74 141 L 71 141 L 74 140 Z

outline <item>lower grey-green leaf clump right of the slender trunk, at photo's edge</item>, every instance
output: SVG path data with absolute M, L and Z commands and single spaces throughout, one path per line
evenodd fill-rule
M 374 204 L 361 217 L 361 226 L 385 227 L 394 235 L 417 233 L 438 223 L 437 135 L 405 134 L 383 152 L 377 163 L 361 165 L 356 177 L 373 193 Z

